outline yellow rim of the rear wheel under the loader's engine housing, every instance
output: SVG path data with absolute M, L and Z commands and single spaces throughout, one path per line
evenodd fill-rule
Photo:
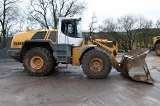
M 34 56 L 30 60 L 30 65 L 33 69 L 41 69 L 44 65 L 44 61 L 40 56 Z

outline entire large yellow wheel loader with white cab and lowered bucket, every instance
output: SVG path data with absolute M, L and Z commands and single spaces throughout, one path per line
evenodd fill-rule
M 145 62 L 148 50 L 132 50 L 116 61 L 117 43 L 83 37 L 81 18 L 59 18 L 58 29 L 15 34 L 8 55 L 33 76 L 48 74 L 59 63 L 82 66 L 89 78 L 106 78 L 112 66 L 135 81 L 153 83 Z

